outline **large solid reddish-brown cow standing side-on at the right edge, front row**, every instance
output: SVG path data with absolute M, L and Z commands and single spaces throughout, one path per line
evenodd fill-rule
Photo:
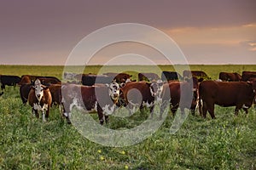
M 209 111 L 212 119 L 214 115 L 214 105 L 224 107 L 236 106 L 235 115 L 241 108 L 246 111 L 253 104 L 255 97 L 255 83 L 253 82 L 217 82 L 204 81 L 199 85 L 200 113 L 204 117 Z

